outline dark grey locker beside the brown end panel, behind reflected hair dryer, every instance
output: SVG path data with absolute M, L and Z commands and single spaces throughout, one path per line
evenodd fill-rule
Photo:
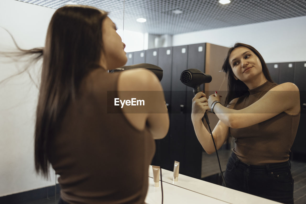
M 206 43 L 188 45 L 187 69 L 199 69 L 205 73 Z M 201 90 L 204 90 L 201 85 Z M 191 121 L 193 89 L 187 87 L 186 102 L 186 139 L 185 139 L 185 175 L 201 179 L 203 148 L 196 137 Z

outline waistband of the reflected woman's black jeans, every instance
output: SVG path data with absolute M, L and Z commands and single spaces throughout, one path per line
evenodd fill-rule
M 285 162 L 280 162 L 280 163 L 269 163 L 269 164 L 266 164 L 266 165 L 250 165 L 250 164 L 247 164 L 247 163 L 244 163 L 242 161 L 240 161 L 236 154 L 232 152 L 232 158 L 233 158 L 233 161 L 235 163 L 235 165 L 239 165 L 239 167 L 241 167 L 242 169 L 248 169 L 248 170 L 251 170 L 251 171 L 275 171 L 275 170 L 278 170 L 278 169 L 285 169 L 285 168 L 291 168 L 291 165 L 290 165 L 290 161 L 285 161 Z

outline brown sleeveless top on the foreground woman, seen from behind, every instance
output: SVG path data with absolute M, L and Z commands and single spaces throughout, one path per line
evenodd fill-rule
M 107 98 L 118 98 L 119 74 L 97 69 L 83 80 L 51 143 L 49 160 L 68 203 L 144 203 L 155 142 Z

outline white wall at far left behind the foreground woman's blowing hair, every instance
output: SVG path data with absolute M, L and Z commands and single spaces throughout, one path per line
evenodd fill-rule
M 54 11 L 28 3 L 1 0 L 0 26 L 9 30 L 21 48 L 41 47 Z M 0 50 L 13 48 L 9 34 L 0 28 Z M 14 65 L 4 63 L 4 60 L 8 61 L 0 58 L 0 81 L 25 67 L 25 63 Z M 31 70 L 34 73 L 37 69 Z M 34 170 L 37 96 L 38 89 L 27 74 L 0 84 L 0 196 L 55 184 L 54 171 L 47 181 L 37 176 Z

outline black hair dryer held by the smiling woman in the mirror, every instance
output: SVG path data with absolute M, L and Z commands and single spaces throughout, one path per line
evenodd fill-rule
M 181 73 L 181 82 L 188 87 L 193 88 L 193 94 L 196 95 L 201 91 L 200 85 L 203 83 L 211 82 L 211 76 L 209 74 L 204 74 L 199 69 L 186 69 Z M 209 124 L 207 113 L 205 112 L 204 118 Z

